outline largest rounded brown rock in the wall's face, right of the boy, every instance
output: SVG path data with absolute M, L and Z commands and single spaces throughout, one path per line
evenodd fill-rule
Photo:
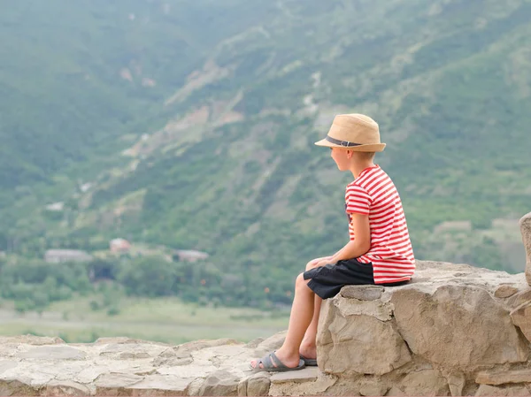
M 391 302 L 412 352 L 447 370 L 527 361 L 528 344 L 507 310 L 479 286 L 404 286 Z

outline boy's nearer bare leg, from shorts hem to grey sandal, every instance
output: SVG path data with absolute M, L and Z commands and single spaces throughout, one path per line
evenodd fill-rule
M 281 348 L 276 351 L 276 355 L 284 365 L 296 367 L 299 363 L 299 347 L 304 338 L 304 333 L 312 323 L 314 295 L 307 286 L 308 281 L 303 279 L 303 274 L 299 274 L 295 282 L 295 297 L 291 306 L 289 316 L 288 333 Z M 251 365 L 256 367 L 257 361 L 252 361 Z

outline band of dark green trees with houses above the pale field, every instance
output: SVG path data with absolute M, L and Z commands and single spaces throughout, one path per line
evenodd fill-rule
M 160 256 L 95 259 L 89 263 L 44 263 L 21 258 L 0 261 L 0 300 L 15 303 L 19 312 L 42 313 L 51 302 L 98 294 L 90 302 L 93 310 L 118 314 L 123 296 L 158 298 L 176 296 L 183 302 L 218 307 L 248 302 L 260 309 L 272 309 L 267 290 L 253 287 L 249 277 L 239 279 L 223 274 L 212 263 L 168 262 Z M 231 294 L 227 294 L 230 291 Z M 288 305 L 291 291 L 277 303 Z

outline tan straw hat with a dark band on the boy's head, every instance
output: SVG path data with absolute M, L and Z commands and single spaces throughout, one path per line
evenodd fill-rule
M 367 152 L 382 151 L 385 148 L 385 143 L 380 141 L 378 123 L 364 114 L 338 114 L 327 137 L 315 144 Z

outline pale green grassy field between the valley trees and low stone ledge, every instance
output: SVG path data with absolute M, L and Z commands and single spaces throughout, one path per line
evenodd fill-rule
M 41 315 L 17 313 L 1 302 L 0 335 L 33 333 L 59 336 L 67 342 L 127 336 L 179 344 L 189 340 L 232 338 L 249 341 L 287 328 L 288 312 L 201 307 L 175 298 L 122 298 L 119 312 L 93 309 L 94 297 L 56 302 Z

